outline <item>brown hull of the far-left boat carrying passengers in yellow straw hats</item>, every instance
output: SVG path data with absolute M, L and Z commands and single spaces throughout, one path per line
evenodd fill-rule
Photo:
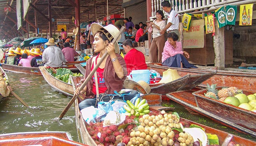
M 6 71 L 16 72 L 16 73 L 29 73 L 29 74 L 36 74 L 41 75 L 39 68 L 35 67 L 24 67 L 24 66 L 17 66 L 17 65 L 9 65 L 9 64 L 1 64 L 2 68 Z

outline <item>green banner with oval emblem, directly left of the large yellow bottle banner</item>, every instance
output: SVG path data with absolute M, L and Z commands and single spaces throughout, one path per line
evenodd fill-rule
M 237 5 L 226 6 L 226 24 L 235 25 L 237 16 Z

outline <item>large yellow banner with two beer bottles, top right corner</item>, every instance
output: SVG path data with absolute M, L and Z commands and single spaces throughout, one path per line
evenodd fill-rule
M 252 25 L 252 7 L 253 4 L 240 5 L 240 26 L 251 26 Z

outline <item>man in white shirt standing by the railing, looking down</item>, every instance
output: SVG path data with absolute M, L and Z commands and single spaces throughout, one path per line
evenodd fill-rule
M 160 31 L 160 34 L 164 34 L 165 31 L 167 31 L 167 33 L 175 32 L 180 39 L 180 32 L 178 30 L 179 29 L 179 17 L 178 17 L 177 12 L 174 9 L 172 9 L 171 4 L 167 0 L 162 1 L 161 5 L 162 5 L 163 11 L 168 13 L 168 19 L 167 19 L 167 24 L 166 24 L 165 28 L 163 28 Z

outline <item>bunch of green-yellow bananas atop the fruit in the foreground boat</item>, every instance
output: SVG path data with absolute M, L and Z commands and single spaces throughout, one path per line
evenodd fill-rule
M 126 103 L 128 105 L 124 105 L 124 109 L 126 111 L 125 115 L 135 115 L 136 117 L 139 117 L 149 113 L 149 106 L 146 103 L 146 99 L 140 101 L 140 98 L 138 98 L 134 105 L 129 100 L 127 100 Z

